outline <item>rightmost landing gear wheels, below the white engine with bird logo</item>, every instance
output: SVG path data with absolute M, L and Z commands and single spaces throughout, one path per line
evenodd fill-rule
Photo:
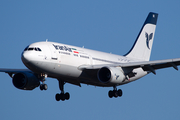
M 122 94 L 123 94 L 122 90 L 121 89 L 117 90 L 116 86 L 114 86 L 113 88 L 114 88 L 114 90 L 113 91 L 110 90 L 109 93 L 108 93 L 109 98 L 112 98 L 112 97 L 115 97 L 115 98 L 121 97 Z

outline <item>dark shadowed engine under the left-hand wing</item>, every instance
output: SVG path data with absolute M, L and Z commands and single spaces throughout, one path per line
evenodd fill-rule
M 32 73 L 16 73 L 12 78 L 13 85 L 21 90 L 33 90 L 40 85 L 39 79 Z

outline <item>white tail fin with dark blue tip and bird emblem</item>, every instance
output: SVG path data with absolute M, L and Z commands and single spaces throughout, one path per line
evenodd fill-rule
M 149 61 L 158 14 L 150 12 L 131 50 L 124 56 Z

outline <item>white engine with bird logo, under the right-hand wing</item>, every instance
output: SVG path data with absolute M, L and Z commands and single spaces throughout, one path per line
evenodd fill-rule
M 126 78 L 120 67 L 103 67 L 98 71 L 97 76 L 102 83 L 112 84 L 120 84 Z

